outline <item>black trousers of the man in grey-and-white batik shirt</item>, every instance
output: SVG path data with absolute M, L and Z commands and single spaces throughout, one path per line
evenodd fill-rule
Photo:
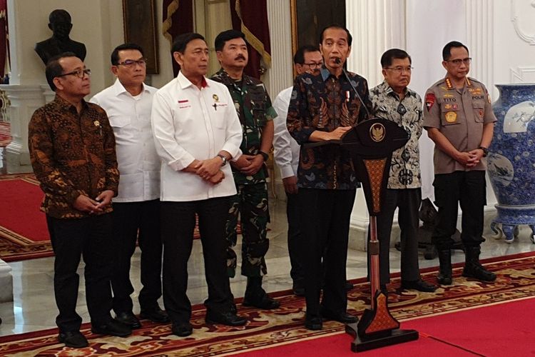
M 401 277 L 402 280 L 415 281 L 420 278 L 418 264 L 418 227 L 419 206 L 422 203 L 420 188 L 387 189 L 381 214 L 377 216 L 377 239 L 379 240 L 379 283 L 390 282 L 390 234 L 394 211 L 398 211 L 401 230 Z M 370 229 L 368 229 L 370 242 Z M 370 252 L 370 249 L 368 249 Z M 370 269 L 370 255 L 368 255 Z

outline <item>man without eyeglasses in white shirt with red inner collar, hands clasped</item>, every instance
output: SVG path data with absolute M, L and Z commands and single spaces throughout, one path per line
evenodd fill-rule
M 205 78 L 208 46 L 200 34 L 181 34 L 171 50 L 178 76 L 156 92 L 152 125 L 161 157 L 163 303 L 177 336 L 193 332 L 186 295 L 195 213 L 203 245 L 206 322 L 244 325 L 227 276 L 225 223 L 236 194 L 228 161 L 241 155 L 242 131 L 230 93 Z

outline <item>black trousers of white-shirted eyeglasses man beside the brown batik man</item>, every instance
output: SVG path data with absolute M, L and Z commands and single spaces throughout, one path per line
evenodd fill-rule
M 141 310 L 150 311 L 158 306 L 162 296 L 162 240 L 160 233 L 160 200 L 113 203 L 113 231 L 116 249 L 113 257 L 113 311 L 132 311 L 130 294 L 134 288 L 130 281 L 131 258 L 136 241 L 141 249 L 141 284 L 139 293 Z

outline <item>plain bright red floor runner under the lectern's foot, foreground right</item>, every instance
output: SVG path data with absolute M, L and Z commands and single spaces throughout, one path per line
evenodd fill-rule
M 360 352 L 351 351 L 347 333 L 241 353 L 269 356 L 534 356 L 535 298 L 417 318 L 402 328 L 419 331 L 417 341 Z

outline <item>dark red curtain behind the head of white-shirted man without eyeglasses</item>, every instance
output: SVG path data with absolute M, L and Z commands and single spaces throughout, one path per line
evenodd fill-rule
M 176 36 L 185 32 L 193 32 L 193 0 L 163 0 L 162 9 L 163 36 L 169 40 L 170 51 Z M 173 59 L 173 54 L 171 54 L 171 63 L 173 73 L 177 76 L 180 66 Z

